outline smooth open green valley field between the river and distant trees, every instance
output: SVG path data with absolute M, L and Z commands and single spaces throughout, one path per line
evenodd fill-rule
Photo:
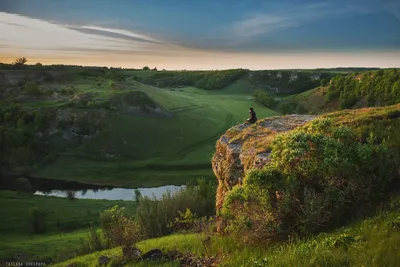
M 215 141 L 229 127 L 245 121 L 249 107 L 254 107 L 260 118 L 278 115 L 251 100 L 249 84 L 244 80 L 216 91 L 193 87 L 160 89 L 131 79 L 123 87 L 123 92 L 146 93 L 174 116 L 108 113 L 101 121 L 106 131 L 61 153 L 53 164 L 36 175 L 123 187 L 184 184 L 200 176 L 210 178 Z M 100 96 L 108 92 L 106 88 L 90 89 L 88 84 L 76 88 L 94 91 Z M 47 101 L 29 105 L 60 103 Z M 104 160 L 99 157 L 103 150 L 115 151 L 123 158 Z

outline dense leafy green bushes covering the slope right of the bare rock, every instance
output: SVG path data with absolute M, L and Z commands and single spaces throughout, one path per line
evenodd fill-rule
M 277 135 L 271 162 L 225 197 L 227 231 L 247 241 L 341 223 L 400 176 L 400 105 L 343 111 Z

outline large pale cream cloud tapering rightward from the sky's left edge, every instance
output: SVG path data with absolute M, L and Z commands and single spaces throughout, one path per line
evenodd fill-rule
M 57 24 L 5 12 L 0 12 L 0 32 L 1 54 L 176 54 L 180 50 L 177 45 L 133 31 Z

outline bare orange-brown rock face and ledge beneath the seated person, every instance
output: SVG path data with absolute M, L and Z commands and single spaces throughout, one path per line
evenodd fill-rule
M 312 119 L 312 115 L 288 115 L 266 118 L 255 124 L 230 128 L 216 144 L 212 167 L 218 179 L 217 214 L 226 193 L 241 183 L 250 169 L 262 168 L 269 160 L 269 144 L 277 133 L 292 130 Z

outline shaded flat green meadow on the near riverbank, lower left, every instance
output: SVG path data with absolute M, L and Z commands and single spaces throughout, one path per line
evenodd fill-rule
M 74 256 L 80 238 L 86 237 L 91 222 L 97 223 L 99 212 L 114 205 L 134 213 L 136 203 L 32 196 L 0 191 L 0 260 L 12 259 L 16 253 L 29 259 L 65 260 Z M 32 207 L 46 210 L 46 233 L 33 234 L 29 211 Z

